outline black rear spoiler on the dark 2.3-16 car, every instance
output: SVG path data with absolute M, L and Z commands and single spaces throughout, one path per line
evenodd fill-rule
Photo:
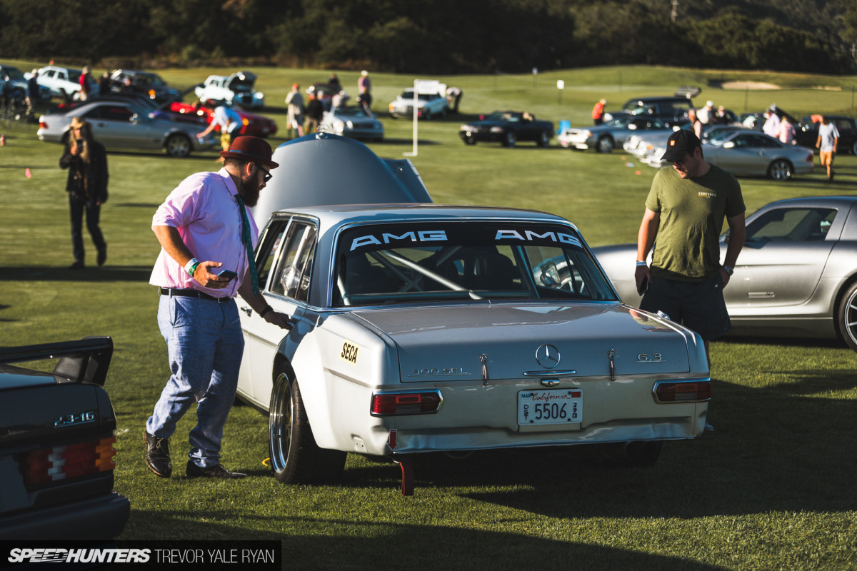
M 113 340 L 108 336 L 84 337 L 80 341 L 41 343 L 25 347 L 0 348 L 0 363 L 56 359 L 53 374 L 57 382 L 93 383 L 104 386 L 113 356 Z M 60 380 L 59 378 L 68 379 Z

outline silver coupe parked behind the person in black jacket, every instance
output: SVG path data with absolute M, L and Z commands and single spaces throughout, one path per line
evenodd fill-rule
M 62 143 L 69 136 L 73 117 L 81 117 L 93 126 L 96 140 L 111 148 L 164 149 L 171 157 L 187 157 L 219 143 L 209 134 L 197 139 L 207 126 L 201 117 L 189 122 L 170 114 L 151 110 L 133 100 L 94 99 L 75 105 L 65 113 L 49 113 L 39 118 L 39 140 Z

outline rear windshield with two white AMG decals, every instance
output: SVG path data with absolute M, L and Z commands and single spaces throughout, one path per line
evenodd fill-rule
M 334 306 L 446 300 L 615 300 L 569 226 L 456 222 L 340 235 Z

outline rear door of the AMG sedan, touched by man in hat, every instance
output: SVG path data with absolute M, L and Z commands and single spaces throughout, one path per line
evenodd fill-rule
M 239 300 L 244 360 L 238 387 L 261 405 L 268 404 L 273 360 L 284 337 L 289 336 L 297 342 L 315 326 L 303 323 L 309 299 L 315 236 L 315 223 L 302 219 L 275 219 L 262 236 L 261 247 L 256 253 L 262 293 L 274 311 L 291 316 L 291 332 L 268 324 L 250 309 L 249 304 Z

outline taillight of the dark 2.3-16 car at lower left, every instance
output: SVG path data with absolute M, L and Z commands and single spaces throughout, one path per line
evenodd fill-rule
M 24 484 L 47 484 L 57 480 L 107 472 L 116 467 L 116 437 L 85 443 L 34 450 L 22 462 Z

